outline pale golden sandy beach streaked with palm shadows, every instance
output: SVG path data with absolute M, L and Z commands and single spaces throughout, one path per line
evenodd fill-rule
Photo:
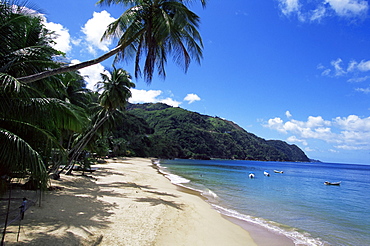
M 11 210 L 19 210 L 22 197 L 36 204 L 21 227 L 8 226 L 5 245 L 257 245 L 202 198 L 171 184 L 150 159 L 96 167 L 87 177 L 75 172 L 53 180 L 41 206 L 34 191 L 14 190 Z M 3 212 L 4 199 L 1 206 Z

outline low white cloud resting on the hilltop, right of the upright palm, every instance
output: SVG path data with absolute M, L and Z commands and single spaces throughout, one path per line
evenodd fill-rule
M 170 97 L 160 98 L 161 90 L 138 90 L 131 89 L 132 97 L 129 99 L 130 103 L 165 103 L 167 105 L 178 107 L 181 102 L 178 102 Z

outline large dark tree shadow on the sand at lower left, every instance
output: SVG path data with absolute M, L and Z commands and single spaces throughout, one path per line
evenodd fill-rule
M 79 187 L 79 184 L 83 184 L 83 186 Z M 68 242 L 68 245 L 94 245 L 93 241 L 97 241 L 97 238 L 101 235 L 92 235 L 84 228 L 91 226 L 99 231 L 99 229 L 109 227 L 109 218 L 113 215 L 111 211 L 118 207 L 116 204 L 104 202 L 97 198 L 101 196 L 122 196 L 122 194 L 114 191 L 102 190 L 99 186 L 89 178 L 78 177 L 74 181 L 64 181 L 63 190 L 46 191 L 43 195 L 42 206 L 38 207 L 36 203 L 35 206 L 29 207 L 25 212 L 24 220 L 21 221 L 20 242 L 7 241 L 7 238 L 9 238 L 8 240 L 16 238 L 19 220 L 8 226 L 5 236 L 6 245 L 50 245 L 51 239 L 53 245 L 66 245 L 65 242 Z M 24 194 L 24 191 L 12 191 L 11 211 L 15 211 L 16 216 L 19 214 L 21 197 Z M 33 193 L 28 194 L 27 198 L 30 201 L 38 199 L 33 197 Z M 15 198 L 16 196 L 19 196 L 19 198 Z M 3 215 L 6 214 L 5 209 L 8 202 L 6 200 L 1 201 L 0 212 L 5 212 L 0 213 L 1 224 L 5 221 Z M 48 210 L 55 211 L 55 213 L 50 214 Z M 40 232 L 41 228 L 45 227 L 48 230 Z M 85 230 L 84 234 L 88 237 L 78 237 L 67 231 L 73 231 L 75 228 Z M 65 231 L 63 237 L 53 235 L 57 230 Z M 32 240 L 27 239 L 27 235 L 32 235 L 32 233 L 37 233 L 37 237 Z M 91 243 L 89 243 L 90 241 L 85 243 L 86 240 L 92 241 Z

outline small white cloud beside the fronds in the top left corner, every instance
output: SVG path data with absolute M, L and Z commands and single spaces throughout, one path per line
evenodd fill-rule
M 53 44 L 53 48 L 64 53 L 71 51 L 71 36 L 69 34 L 69 30 L 63 27 L 61 24 L 47 22 L 46 19 L 44 21 L 45 27 L 54 32 L 53 40 L 55 44 Z

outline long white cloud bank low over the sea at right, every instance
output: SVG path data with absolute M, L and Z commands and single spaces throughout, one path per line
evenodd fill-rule
M 370 117 L 357 115 L 324 120 L 321 116 L 309 116 L 306 121 L 272 118 L 264 127 L 291 134 L 289 142 L 307 144 L 308 139 L 319 139 L 335 143 L 340 149 L 370 149 Z

